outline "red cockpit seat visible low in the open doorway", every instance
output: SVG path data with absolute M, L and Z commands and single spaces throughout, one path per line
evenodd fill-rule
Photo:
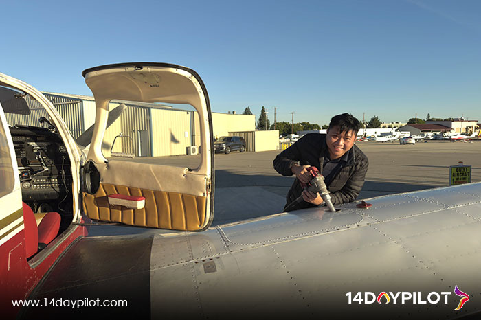
M 38 248 L 45 247 L 57 236 L 60 229 L 60 214 L 49 212 L 43 217 L 40 225 L 36 225 L 35 215 L 26 204 L 23 205 L 23 225 L 25 230 L 25 251 L 27 258 L 37 253 Z

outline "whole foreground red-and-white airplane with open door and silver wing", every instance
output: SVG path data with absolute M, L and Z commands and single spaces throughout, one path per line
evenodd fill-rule
M 96 98 L 88 148 L 76 144 L 39 91 L 0 73 L 3 319 L 480 315 L 481 183 L 210 227 L 214 148 L 200 76 L 154 62 L 104 65 L 82 75 Z M 201 119 L 199 165 L 104 157 L 114 99 L 194 106 Z M 8 123 L 37 116 L 38 106 L 49 117 L 47 128 Z M 53 183 L 45 179 L 52 176 L 61 196 L 48 198 Z M 58 216 L 42 209 L 60 216 L 59 229 Z M 37 227 L 41 214 L 52 217 Z M 87 236 L 89 224 L 121 228 L 113 222 L 159 230 Z M 35 233 L 50 242 L 38 246 Z

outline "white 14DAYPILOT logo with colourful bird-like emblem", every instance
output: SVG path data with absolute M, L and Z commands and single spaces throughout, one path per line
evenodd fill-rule
M 458 286 L 455 286 L 454 293 L 461 297 L 458 307 L 454 310 L 460 310 L 460 308 L 462 308 L 462 306 L 469 301 L 469 295 L 459 290 Z M 447 304 L 449 295 L 451 295 L 451 291 L 443 291 L 440 293 L 433 291 L 427 295 L 422 295 L 421 292 L 398 291 L 396 293 L 387 293 L 383 291 L 377 296 L 374 293 L 366 291 L 364 293 L 358 292 L 356 295 L 354 295 L 354 297 L 353 293 L 346 293 L 346 296 L 348 297 L 348 304 L 373 304 L 375 301 L 377 301 L 378 304 Z

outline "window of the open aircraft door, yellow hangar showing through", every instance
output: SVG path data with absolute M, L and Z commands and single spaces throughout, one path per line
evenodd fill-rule
M 199 115 L 186 104 L 112 100 L 109 110 L 126 108 L 105 130 L 107 159 L 195 169 L 201 162 Z

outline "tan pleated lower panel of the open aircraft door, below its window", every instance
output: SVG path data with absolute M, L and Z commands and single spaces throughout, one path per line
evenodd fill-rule
M 208 185 L 205 176 L 187 168 L 111 160 L 96 165 L 102 182 L 95 194 L 84 192 L 84 211 L 91 219 L 139 227 L 195 231 L 205 225 Z M 140 187 L 139 187 L 140 186 Z M 143 209 L 109 205 L 108 196 L 143 196 Z

